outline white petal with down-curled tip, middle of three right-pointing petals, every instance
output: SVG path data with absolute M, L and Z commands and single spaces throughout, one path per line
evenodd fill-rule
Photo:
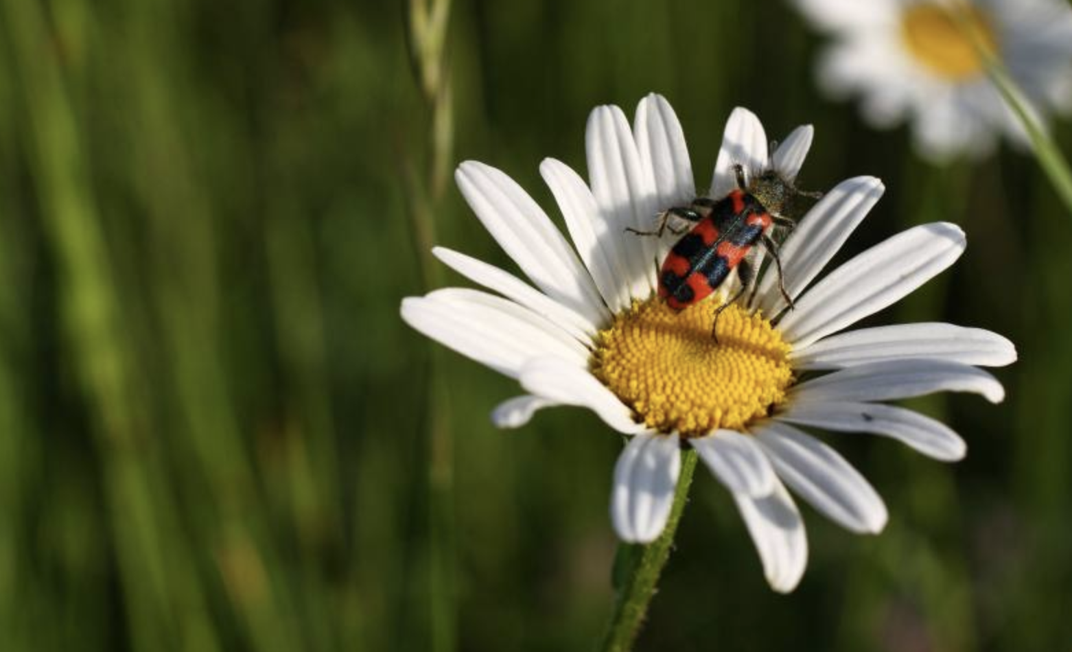
M 992 403 L 1004 399 L 993 375 L 948 360 L 907 359 L 867 362 L 805 381 L 792 388 L 793 401 L 892 401 L 936 391 L 971 391 Z

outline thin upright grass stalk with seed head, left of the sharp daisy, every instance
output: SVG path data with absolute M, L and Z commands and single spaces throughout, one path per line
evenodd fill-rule
M 407 0 L 406 43 L 417 85 L 429 113 L 426 175 L 408 176 L 411 223 L 414 244 L 427 286 L 435 285 L 437 265 L 431 249 L 435 242 L 433 218 L 444 214 L 443 204 L 453 150 L 453 109 L 450 66 L 447 60 L 447 26 L 450 0 Z M 413 168 L 412 162 L 410 163 Z M 438 354 L 433 351 L 428 374 L 428 487 L 429 487 L 429 618 L 431 649 L 449 652 L 457 646 L 455 604 L 456 545 L 453 442 L 449 430 L 446 383 Z

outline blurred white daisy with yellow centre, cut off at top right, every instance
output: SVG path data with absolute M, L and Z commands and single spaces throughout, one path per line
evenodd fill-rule
M 1072 110 L 1072 9 L 1061 0 L 795 4 L 834 39 L 819 61 L 820 85 L 835 98 L 859 95 L 875 127 L 910 120 L 928 159 L 984 154 L 1000 134 L 1027 143 L 965 28 L 1003 63 L 1033 113 Z

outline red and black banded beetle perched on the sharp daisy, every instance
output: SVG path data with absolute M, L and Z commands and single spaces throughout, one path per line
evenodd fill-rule
M 781 211 L 792 208 L 795 214 L 803 209 L 802 205 L 798 206 L 800 198 L 819 196 L 819 193 L 796 190 L 774 171 L 758 175 L 751 186 L 746 183 L 741 165 L 734 165 L 733 172 L 738 188 L 721 199 L 697 197 L 688 207 L 671 208 L 662 213 L 659 228 L 655 232 L 628 229 L 640 235 L 660 236 L 668 228 L 671 217 L 695 224 L 671 248 L 659 270 L 659 296 L 675 311 L 706 298 L 736 269 L 741 287 L 733 297 L 718 307 L 711 326 L 711 335 L 716 342 L 718 316 L 741 297 L 755 278 L 748 254 L 757 242 L 771 254 L 778 272 L 778 290 L 789 308 L 794 307 L 792 297 L 786 292 L 778 244 L 769 232 L 772 226 L 791 229 L 795 226 L 795 221 L 781 214 Z M 761 202 L 759 197 L 763 197 L 765 202 Z M 770 204 L 773 210 L 769 210 L 764 203 Z M 672 227 L 670 229 L 672 233 L 681 233 Z

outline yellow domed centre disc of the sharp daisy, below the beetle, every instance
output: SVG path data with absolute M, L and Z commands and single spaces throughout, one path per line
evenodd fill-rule
M 716 301 L 674 312 L 653 298 L 634 303 L 599 332 L 592 371 L 638 419 L 683 436 L 741 430 L 766 416 L 793 381 L 789 344 L 771 323 Z

